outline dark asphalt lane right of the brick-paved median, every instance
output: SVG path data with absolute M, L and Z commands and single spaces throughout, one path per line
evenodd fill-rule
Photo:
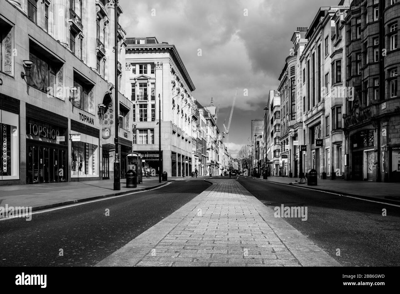
M 306 221 L 285 220 L 343 266 L 400 266 L 399 207 L 253 178 L 238 181 L 266 206 L 307 206 Z

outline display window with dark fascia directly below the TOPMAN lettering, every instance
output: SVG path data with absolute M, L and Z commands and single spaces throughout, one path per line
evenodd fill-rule
M 100 130 L 71 120 L 71 181 L 99 180 Z

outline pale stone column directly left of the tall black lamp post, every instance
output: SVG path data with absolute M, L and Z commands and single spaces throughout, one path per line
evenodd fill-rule
M 115 84 L 115 52 L 113 52 L 113 47 L 115 46 L 115 7 L 114 0 L 111 0 L 107 4 L 107 14 L 110 22 L 108 23 L 108 38 L 105 39 L 104 46 L 106 47 L 106 72 L 105 79 L 108 82 Z

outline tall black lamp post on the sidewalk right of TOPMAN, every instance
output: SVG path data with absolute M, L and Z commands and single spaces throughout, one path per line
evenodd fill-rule
M 114 158 L 114 191 L 121 190 L 121 174 L 120 174 L 120 154 L 118 153 L 118 0 L 114 1 L 115 8 L 115 40 L 114 40 L 114 50 L 115 50 L 115 158 Z

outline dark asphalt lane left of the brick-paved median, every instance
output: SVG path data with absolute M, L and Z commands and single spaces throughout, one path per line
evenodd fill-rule
M 93 266 L 209 186 L 188 178 L 148 192 L 33 214 L 31 221 L 0 221 L 0 266 Z

